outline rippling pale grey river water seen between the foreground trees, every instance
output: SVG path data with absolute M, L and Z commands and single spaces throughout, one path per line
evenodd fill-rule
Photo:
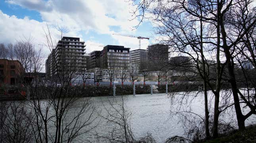
M 209 102 L 213 103 L 213 95 L 209 97 Z M 93 97 L 92 101 L 94 102 L 96 109 L 101 110 L 103 109 L 103 105 L 108 104 L 109 100 L 112 98 L 113 96 Z M 120 97 L 116 96 L 116 98 Z M 179 92 L 177 92 L 175 99 L 179 100 L 179 98 L 181 98 L 181 96 L 179 95 Z M 190 100 L 192 98 L 192 102 L 187 103 L 189 105 L 185 104 L 182 107 L 191 107 L 191 111 L 204 117 L 204 98 L 202 94 L 197 94 L 195 98 L 194 96 L 191 96 Z M 127 95 L 124 96 L 124 100 L 126 105 L 125 107 L 132 113 L 130 123 L 131 129 L 136 138 L 143 137 L 147 132 L 149 132 L 158 143 L 163 143 L 168 137 L 174 135 L 185 136 L 183 124 L 179 122 L 179 118 L 177 116 L 170 116 L 171 111 L 179 110 L 180 106 L 175 102 L 171 102 L 171 98 L 169 98 L 167 94 Z M 212 106 L 209 107 L 210 114 L 213 112 Z M 246 111 L 246 109 L 243 110 Z M 101 111 L 104 115 L 104 110 Z M 230 108 L 228 113 L 223 114 L 224 115 L 220 118 L 227 122 L 231 122 L 231 125 L 236 127 L 235 110 Z M 246 120 L 246 126 L 249 124 L 256 124 L 255 115 Z M 76 142 L 97 142 L 95 133 L 104 134 L 107 133 L 110 128 L 111 123 L 106 123 L 101 120 L 94 130 L 90 133 L 79 136 L 76 139 Z

